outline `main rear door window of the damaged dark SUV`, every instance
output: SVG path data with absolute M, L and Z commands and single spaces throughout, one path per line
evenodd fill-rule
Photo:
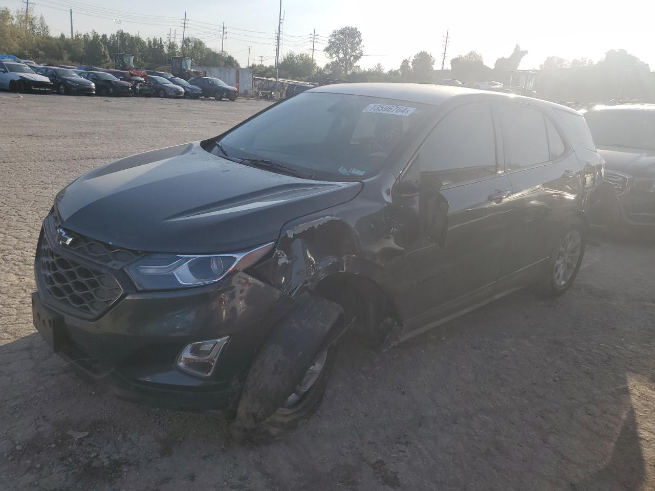
M 549 162 L 544 114 L 525 105 L 501 104 L 499 109 L 506 170 Z

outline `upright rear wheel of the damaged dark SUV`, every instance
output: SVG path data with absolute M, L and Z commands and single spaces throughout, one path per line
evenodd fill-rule
M 587 238 L 587 227 L 576 217 L 567 223 L 546 261 L 537 282 L 538 292 L 545 297 L 559 297 L 567 291 L 580 270 Z

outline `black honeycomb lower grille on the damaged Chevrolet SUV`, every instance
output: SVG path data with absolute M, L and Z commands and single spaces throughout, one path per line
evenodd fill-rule
M 121 294 L 121 285 L 108 274 L 58 255 L 41 236 L 39 262 L 43 285 L 56 302 L 88 317 L 106 310 Z

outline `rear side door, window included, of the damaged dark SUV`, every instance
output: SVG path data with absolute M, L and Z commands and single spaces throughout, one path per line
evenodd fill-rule
M 515 102 L 496 108 L 514 192 L 500 274 L 500 287 L 510 287 L 539 270 L 564 221 L 578 210 L 582 168 L 548 111 Z

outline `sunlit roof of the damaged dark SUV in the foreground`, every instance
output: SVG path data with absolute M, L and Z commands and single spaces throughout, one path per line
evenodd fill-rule
M 362 82 L 350 84 L 329 84 L 322 85 L 307 92 L 325 92 L 329 94 L 348 94 L 352 96 L 370 96 L 382 99 L 393 99 L 398 101 L 415 102 L 420 104 L 440 105 L 451 99 L 478 101 L 521 101 L 539 107 L 552 107 L 561 111 L 578 114 L 569 107 L 541 99 L 517 96 L 516 94 L 505 94 L 503 92 L 491 92 L 488 90 L 477 90 L 474 88 L 457 87 L 452 85 L 438 84 L 410 84 L 394 82 Z

